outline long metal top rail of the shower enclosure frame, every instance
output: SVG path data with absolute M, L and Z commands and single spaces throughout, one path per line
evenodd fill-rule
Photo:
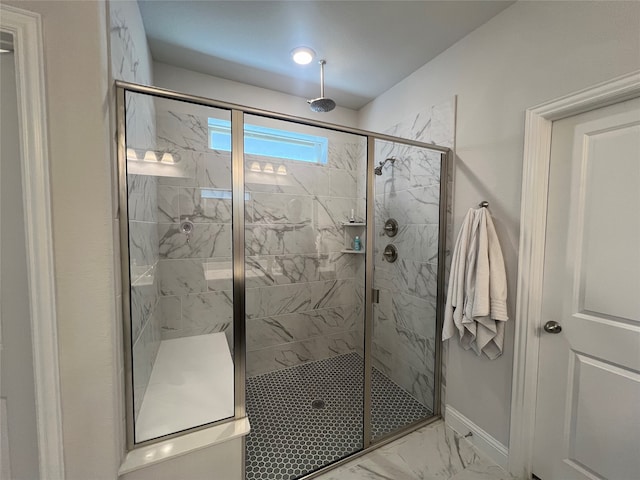
M 248 113 L 248 114 L 256 115 L 260 117 L 268 117 L 276 120 L 286 120 L 286 121 L 301 124 L 301 125 L 326 128 L 327 130 L 333 130 L 333 131 L 344 132 L 344 133 L 352 133 L 354 135 L 360 135 L 365 137 L 375 137 L 378 140 L 383 140 L 386 142 L 402 143 L 404 145 L 411 145 L 413 147 L 422 147 L 427 150 L 432 150 L 434 152 L 440 152 L 440 153 L 446 154 L 451 151 L 449 147 L 442 147 L 440 145 L 435 145 L 433 143 L 425 143 L 417 140 L 410 140 L 408 138 L 395 137 L 393 135 L 385 135 L 382 133 L 372 132 L 369 130 L 362 130 L 359 128 L 344 127 L 341 125 L 336 125 L 334 123 L 319 122 L 317 120 L 312 120 L 309 118 L 297 117 L 295 115 L 287 115 L 284 113 L 272 112 L 269 110 L 262 110 L 260 108 L 247 107 L 247 106 L 236 104 L 236 103 L 222 102 L 220 100 L 213 100 L 211 98 L 200 97 L 198 95 L 190 95 L 187 93 L 176 92 L 175 90 L 168 90 L 165 88 L 151 87 L 148 85 L 140 85 L 137 83 L 124 82 L 122 80 L 116 80 L 115 85 L 116 87 L 123 88 L 127 91 L 134 92 L 134 93 L 145 93 L 147 95 L 153 95 L 155 97 L 167 98 L 170 100 L 181 100 L 187 103 L 194 103 L 197 105 L 205 105 L 208 107 L 222 108 L 225 110 L 241 110 L 244 113 Z

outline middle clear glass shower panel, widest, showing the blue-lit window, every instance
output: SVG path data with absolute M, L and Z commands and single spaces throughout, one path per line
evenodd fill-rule
M 293 479 L 363 448 L 366 138 L 256 115 L 244 138 L 246 478 Z

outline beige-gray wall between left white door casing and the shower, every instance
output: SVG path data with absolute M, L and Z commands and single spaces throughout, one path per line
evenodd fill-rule
M 66 477 L 113 480 L 122 444 L 122 347 L 106 6 L 3 3 L 42 15 Z

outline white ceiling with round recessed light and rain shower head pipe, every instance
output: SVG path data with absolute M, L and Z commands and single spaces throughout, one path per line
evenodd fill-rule
M 139 0 L 154 60 L 360 109 L 513 1 Z M 290 52 L 311 47 L 316 61 Z

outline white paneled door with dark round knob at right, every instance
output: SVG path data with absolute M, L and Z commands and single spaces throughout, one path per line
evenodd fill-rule
M 553 123 L 542 315 L 533 473 L 640 479 L 640 99 Z

